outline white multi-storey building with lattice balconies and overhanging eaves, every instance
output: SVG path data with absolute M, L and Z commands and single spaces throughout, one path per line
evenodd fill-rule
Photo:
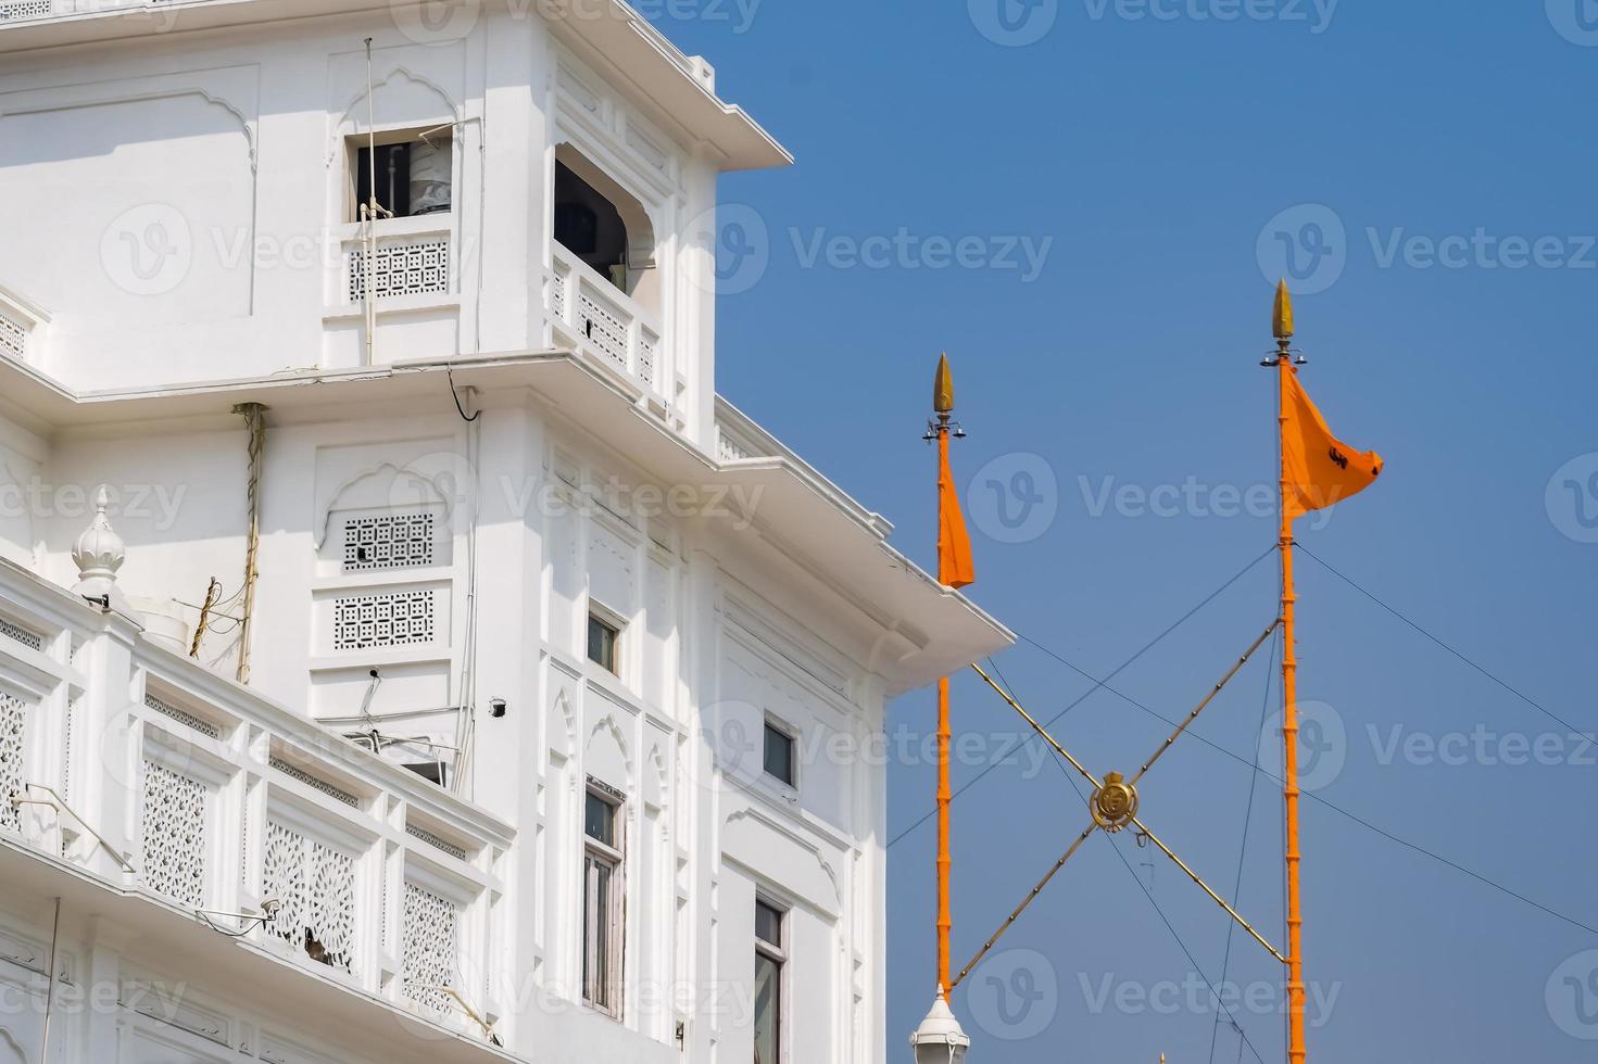
M 718 398 L 714 80 L 0 0 L 0 1064 L 904 1051 L 874 738 L 1010 636 Z

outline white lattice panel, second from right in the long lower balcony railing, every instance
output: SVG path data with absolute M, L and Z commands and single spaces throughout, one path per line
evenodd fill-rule
M 355 858 L 267 821 L 262 896 L 280 906 L 272 935 L 318 963 L 355 971 Z

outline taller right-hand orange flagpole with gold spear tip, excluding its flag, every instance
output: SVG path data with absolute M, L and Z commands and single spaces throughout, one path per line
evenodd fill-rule
M 1293 297 L 1288 294 L 1286 281 L 1277 286 L 1275 312 L 1272 315 L 1272 332 L 1277 340 L 1277 433 L 1280 452 L 1280 506 L 1282 530 L 1278 546 L 1282 550 L 1282 751 L 1286 760 L 1283 768 L 1282 797 L 1286 805 L 1286 872 L 1288 872 L 1288 1061 L 1304 1064 L 1304 952 L 1302 925 L 1299 912 L 1299 786 L 1298 786 L 1298 658 L 1293 645 L 1293 518 L 1288 516 L 1288 482 L 1286 465 L 1286 431 L 1288 431 L 1288 385 L 1293 379 Z

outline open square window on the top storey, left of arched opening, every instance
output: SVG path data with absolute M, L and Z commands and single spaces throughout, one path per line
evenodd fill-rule
M 374 144 L 376 142 L 376 144 Z M 454 201 L 452 126 L 350 136 L 348 220 L 377 197 L 379 217 L 449 214 Z

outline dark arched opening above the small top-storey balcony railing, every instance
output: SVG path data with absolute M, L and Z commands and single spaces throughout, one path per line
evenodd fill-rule
M 658 313 L 655 230 L 644 204 L 570 144 L 555 150 L 555 240 Z

